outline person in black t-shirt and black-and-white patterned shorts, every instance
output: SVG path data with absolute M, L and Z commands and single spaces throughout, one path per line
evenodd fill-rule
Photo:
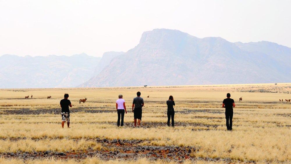
M 60 105 L 62 108 L 62 128 L 64 128 L 64 124 L 67 121 L 68 128 L 70 128 L 70 110 L 69 106 L 72 107 L 71 101 L 68 100 L 69 94 L 64 95 L 64 99 L 61 100 Z

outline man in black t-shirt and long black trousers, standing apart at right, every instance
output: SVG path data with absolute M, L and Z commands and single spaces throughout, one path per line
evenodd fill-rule
M 235 101 L 230 98 L 230 93 L 226 94 L 226 97 L 223 100 L 222 107 L 225 107 L 226 128 L 231 131 L 233 129 L 233 107 L 235 107 Z

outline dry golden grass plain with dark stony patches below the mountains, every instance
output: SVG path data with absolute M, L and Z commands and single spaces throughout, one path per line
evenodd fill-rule
M 137 91 L 145 103 L 140 127 L 131 109 Z M 71 128 L 61 128 L 65 93 Z M 233 131 L 222 108 L 227 93 L 236 104 Z M 289 93 L 291 83 L 1 89 L 0 163 L 291 163 Z M 123 127 L 116 126 L 119 94 L 128 111 Z M 170 95 L 174 127 L 166 123 Z

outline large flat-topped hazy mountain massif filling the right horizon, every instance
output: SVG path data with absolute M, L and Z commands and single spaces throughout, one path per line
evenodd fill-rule
M 154 29 L 79 87 L 290 82 L 291 48 Z

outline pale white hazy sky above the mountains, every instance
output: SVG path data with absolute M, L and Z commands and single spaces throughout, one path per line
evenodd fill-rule
M 291 47 L 290 6 L 287 0 L 0 0 L 0 55 L 102 56 L 133 48 L 156 28 Z

